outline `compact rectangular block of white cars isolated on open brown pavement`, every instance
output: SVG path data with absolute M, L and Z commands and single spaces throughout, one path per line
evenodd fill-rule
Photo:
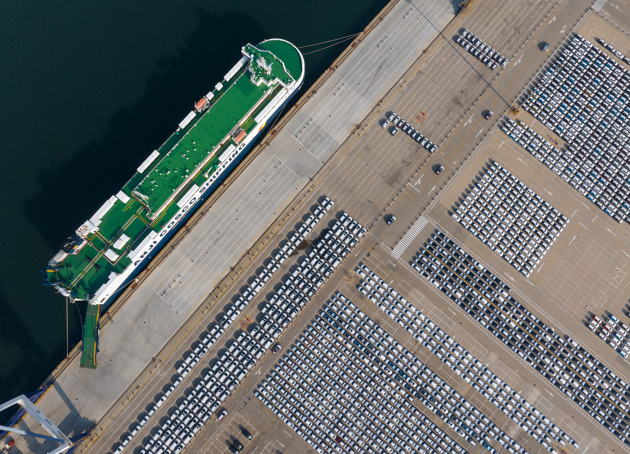
M 568 219 L 498 162 L 483 170 L 451 216 L 529 277 Z

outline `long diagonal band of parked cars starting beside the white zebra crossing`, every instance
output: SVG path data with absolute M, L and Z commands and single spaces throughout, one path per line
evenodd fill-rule
M 438 231 L 437 248 L 410 264 L 474 320 L 530 364 L 567 399 L 630 445 L 630 384 L 568 336 L 556 334 L 508 294 L 507 285 Z M 430 244 L 429 244 L 430 245 Z M 444 361 L 447 361 L 445 358 Z M 575 446 L 575 441 L 568 440 Z

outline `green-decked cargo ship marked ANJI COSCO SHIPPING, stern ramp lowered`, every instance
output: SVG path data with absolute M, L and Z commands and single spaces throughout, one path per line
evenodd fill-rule
M 42 271 L 44 285 L 89 302 L 81 366 L 96 367 L 100 311 L 224 182 L 301 88 L 304 57 L 290 42 L 265 40 L 241 52 L 214 90 Z

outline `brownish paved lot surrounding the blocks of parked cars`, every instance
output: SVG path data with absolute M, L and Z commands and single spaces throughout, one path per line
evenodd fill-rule
M 342 262 L 340 269 L 319 290 L 314 300 L 306 306 L 306 310 L 302 311 L 289 329 L 282 334 L 280 343 L 289 346 L 335 289 L 341 289 L 355 303 L 362 302 L 362 310 L 370 317 L 383 320 L 382 316 L 379 317 L 380 311 L 376 306 L 358 293 L 355 288 L 358 282 L 356 277 L 343 272 L 351 271 L 359 261 L 364 260 L 370 268 L 378 269 L 381 277 L 386 276 L 384 279 L 387 282 L 392 281 L 391 285 L 423 313 L 430 314 L 429 317 L 436 323 L 441 320 L 439 324 L 442 329 L 469 351 L 474 352 L 484 364 L 488 364 L 488 368 L 497 375 L 498 371 L 503 371 L 505 381 L 518 389 L 522 395 L 528 396 L 527 399 L 537 407 L 546 409 L 552 421 L 579 441 L 580 449 L 575 452 L 606 454 L 615 448 L 621 449 L 622 446 L 600 429 L 599 425 L 593 424 L 592 418 L 578 412 L 568 400 L 559 396 L 558 391 L 534 373 L 529 366 L 518 361 L 503 344 L 497 343 L 494 337 L 481 330 L 459 307 L 427 286 L 426 282 L 407 265 L 408 260 L 439 225 L 466 245 L 476 257 L 483 259 L 491 269 L 496 270 L 506 282 L 510 282 L 514 297 L 522 301 L 538 317 L 570 334 L 573 339 L 588 345 L 608 364 L 614 366 L 611 368 L 619 372 L 617 375 L 630 375 L 626 370 L 630 364 L 622 360 L 599 338 L 593 337 L 583 324 L 588 311 L 601 317 L 605 310 L 610 310 L 621 318 L 622 310 L 626 308 L 627 297 L 624 296 L 624 290 L 628 282 L 626 273 L 630 272 L 627 268 L 630 261 L 630 255 L 627 253 L 630 230 L 627 225 L 616 224 L 610 218 L 600 216 L 601 212 L 597 207 L 588 206 L 587 199 L 530 154 L 524 153 L 524 150 L 503 132 L 493 132 L 474 158 L 467 160 L 471 151 L 481 143 L 485 134 L 496 124 L 498 117 L 507 110 L 512 100 L 546 59 L 548 54 L 542 54 L 537 44 L 559 42 L 571 30 L 588 4 L 571 3 L 570 9 L 564 9 L 562 6 L 564 5 L 554 8 L 554 4 L 548 2 L 479 4 L 466 16 L 464 22 L 456 24 L 454 32 L 468 28 L 489 44 L 493 41 L 500 42 L 496 44 L 495 49 L 507 55 L 511 62 L 495 80 L 493 80 L 495 73 L 476 59 L 472 59 L 469 54 L 462 53 L 461 47 L 453 43 L 452 37 L 448 37 L 444 44 L 440 42 L 435 44 L 435 54 L 428 57 L 430 58 L 428 62 L 420 60 L 404 74 L 401 83 L 408 81 L 404 85 L 404 90 L 399 91 L 396 87 L 385 96 L 387 102 L 389 100 L 392 102 L 385 103 L 386 107 L 381 106 L 381 111 L 394 110 L 410 123 L 411 119 L 421 114 L 418 117 L 421 122 L 415 123 L 416 129 L 435 143 L 440 143 L 442 138 L 445 139 L 436 156 L 431 157 L 426 165 L 423 163 L 427 160 L 428 153 L 413 143 L 408 136 L 399 132 L 392 137 L 387 131 L 377 127 L 384 112 L 376 110 L 368 116 L 369 127 L 360 134 L 359 140 L 355 141 L 357 137 L 354 136 L 350 143 L 341 146 L 339 158 L 334 155 L 331 160 L 335 162 L 333 172 L 329 173 L 327 169 L 324 169 L 326 172 L 321 172 L 323 178 L 296 214 L 300 216 L 306 212 L 319 195 L 325 194 L 336 202 L 333 211 L 345 209 L 371 230 Z M 603 30 L 604 33 L 608 33 L 605 36 L 617 36 L 619 40 L 622 39 L 617 30 L 612 30 L 609 24 L 597 16 L 591 16 L 588 21 L 590 22 L 583 25 L 586 28 L 588 24 L 588 30 Z M 537 28 L 541 23 L 542 25 Z M 523 42 L 519 37 L 529 35 L 535 28 L 534 35 L 522 49 L 518 50 Z M 515 30 L 519 30 L 518 33 Z M 619 47 L 617 44 L 614 45 Z M 490 82 L 490 89 L 484 90 Z M 488 108 L 495 112 L 495 117 L 484 120 L 482 112 Z M 532 124 L 532 128 L 542 136 L 551 135 L 542 125 L 535 124 L 531 117 L 527 117 L 527 114 L 520 114 L 518 118 Z M 513 271 L 505 261 L 447 215 L 451 204 L 489 158 L 500 162 L 570 218 L 570 224 L 529 279 Z M 466 166 L 462 167 L 464 161 Z M 433 173 L 433 166 L 437 163 L 446 168 L 440 175 Z M 450 181 L 454 172 L 458 172 L 457 180 L 454 180 L 448 190 L 442 192 L 442 187 Z M 431 204 L 430 209 L 424 211 L 428 204 Z M 381 216 L 384 212 L 394 214 L 397 218 L 396 223 L 387 226 L 382 222 Z M 329 213 L 324 220 L 329 219 L 331 214 Z M 392 254 L 396 242 L 402 239 L 405 231 L 420 214 L 427 223 L 416 229 L 416 236 L 404 248 L 399 248 L 400 253 Z M 287 233 L 292 230 L 294 223 L 287 223 L 285 227 Z M 313 235 L 315 233 L 307 239 L 312 240 Z M 281 236 L 278 235 L 277 238 Z M 277 240 L 268 244 L 249 265 L 249 270 L 253 272 L 276 247 Z M 282 276 L 293 263 L 291 260 L 286 262 L 275 276 Z M 242 273 L 231 288 L 238 289 L 249 276 L 251 272 Z M 227 305 L 233 293 L 225 294 L 215 303 L 215 308 Z M 253 301 L 255 304 L 250 303 L 243 314 L 254 318 L 257 313 L 255 305 L 258 305 L 258 301 L 256 298 Z M 108 452 L 117 446 L 118 440 L 122 439 L 125 431 L 129 431 L 137 416 L 152 406 L 149 402 L 152 402 L 164 390 L 165 383 L 172 379 L 175 372 L 173 365 L 181 361 L 181 357 L 186 355 L 193 341 L 203 337 L 204 327 L 216 317 L 215 310 L 203 316 L 197 323 L 200 328 L 186 335 L 174 354 L 169 356 L 166 364 L 157 368 L 140 391 L 123 407 L 119 416 L 109 424 L 106 433 L 97 438 L 88 450 Z M 383 322 L 387 323 L 387 320 Z M 228 330 L 224 338 L 208 352 L 205 356 L 206 363 L 207 359 L 215 356 L 224 346 L 231 332 L 233 330 Z M 440 361 L 427 356 L 426 349 L 419 347 L 406 331 L 391 325 L 389 332 L 394 339 L 423 361 L 426 360 L 440 377 L 448 380 L 449 384 L 466 399 L 480 408 L 484 407 L 485 414 L 488 417 L 492 415 L 491 420 L 518 443 L 524 445 L 530 453 L 541 451 L 542 446 L 530 439 L 512 421 L 509 419 L 506 421 L 503 413 L 497 413 L 496 408 L 490 408 L 487 402 L 481 402 L 473 388 L 459 377 L 452 376 L 452 371 L 443 367 Z M 260 383 L 261 378 L 275 364 L 276 359 L 268 353 L 256 364 L 253 373 L 249 373 L 243 384 L 236 388 L 226 401 L 228 417 L 220 422 L 213 418 L 212 422 L 193 439 L 187 448 L 188 451 L 211 453 L 227 451 L 226 441 L 231 439 L 231 435 L 238 435 L 241 424 L 255 434 L 255 438 L 246 445 L 248 452 L 256 454 L 259 452 L 278 454 L 278 451 L 287 454 L 313 452 L 304 439 L 288 429 L 284 422 L 261 405 L 251 393 L 253 387 Z M 201 366 L 197 366 L 178 390 L 190 389 L 200 374 L 205 375 L 204 371 Z M 177 395 L 180 394 L 181 391 L 178 391 Z M 176 401 L 175 397 L 174 395 L 173 401 Z M 174 403 L 169 402 L 168 405 Z M 437 418 L 435 422 L 442 423 Z M 150 425 L 147 424 L 145 432 L 137 434 L 132 443 L 147 436 L 151 429 Z M 239 439 L 245 441 L 243 437 Z M 471 454 L 476 454 L 479 449 L 483 450 L 479 445 L 466 449 Z

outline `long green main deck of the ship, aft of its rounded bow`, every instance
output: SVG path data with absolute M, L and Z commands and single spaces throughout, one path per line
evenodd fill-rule
M 239 71 L 239 73 L 232 78 L 231 83 L 232 86 L 230 90 L 227 90 L 225 93 L 223 91 L 217 92 L 215 98 L 220 96 L 219 100 L 214 103 L 209 111 L 205 112 L 205 114 L 200 117 L 197 123 L 183 131 L 176 132 L 159 148 L 158 151 L 161 155 L 166 154 L 171 148 L 175 149 L 170 156 L 167 156 L 166 159 L 158 163 L 155 167 L 157 172 L 161 170 L 162 172 L 159 173 L 166 173 L 168 172 L 166 169 L 171 166 L 171 163 L 175 163 L 173 165 L 183 165 L 182 163 L 186 162 L 186 157 L 190 158 L 190 154 L 182 157 L 178 154 L 179 150 L 188 150 L 194 146 L 198 146 L 198 144 L 203 144 L 202 146 L 205 147 L 205 143 L 209 143 L 209 137 L 210 143 L 213 144 L 213 146 L 215 143 L 219 143 L 234 128 L 234 124 L 238 124 L 238 122 L 248 114 L 251 108 L 256 105 L 256 102 L 258 102 L 261 97 L 265 97 L 265 90 L 251 83 L 248 74 L 244 73 L 244 70 Z M 265 86 L 263 85 L 263 87 Z M 269 90 L 268 96 L 249 114 L 249 120 L 242 125 L 244 131 L 249 134 L 256 130 L 258 124 L 254 121 L 254 118 L 271 102 L 273 96 L 275 96 L 281 88 L 282 87 L 278 85 L 272 90 Z M 248 98 L 248 101 L 244 102 L 244 98 Z M 232 105 L 234 105 L 234 107 L 232 107 Z M 230 115 L 234 117 L 232 122 L 223 122 L 221 125 L 217 126 L 216 124 L 212 124 L 217 115 L 221 115 L 221 118 L 226 118 Z M 210 134 L 213 135 L 210 136 Z M 212 137 L 214 137 L 214 139 Z M 212 142 L 212 140 L 216 142 Z M 144 240 L 149 231 L 159 230 L 164 224 L 164 220 L 170 219 L 171 216 L 175 214 L 179 209 L 175 202 L 193 185 L 202 185 L 206 179 L 204 174 L 209 175 L 218 168 L 221 164 L 219 160 L 221 154 L 231 143 L 232 141 L 229 140 L 222 144 L 221 148 L 215 149 L 214 155 L 209 161 L 204 163 L 200 172 L 198 172 L 194 178 L 188 180 L 186 185 L 179 188 L 177 194 L 180 197 L 176 197 L 173 201 L 166 204 L 155 219 L 150 219 L 147 216 L 146 207 L 133 197 L 126 204 L 117 199 L 106 216 L 103 217 L 99 225 L 99 230 L 96 233 L 88 235 L 88 244 L 81 248 L 76 254 L 70 254 L 63 260 L 63 267 L 56 272 L 58 279 L 69 284 L 73 293 L 76 294 L 76 298 L 88 298 L 87 295 L 94 294 L 95 291 L 108 280 L 111 272 L 123 272 L 131 263 L 128 253 L 134 250 L 134 248 Z M 207 156 L 207 154 L 210 153 L 209 149 L 202 149 L 201 146 L 198 150 L 198 158 Z M 182 155 L 185 154 L 186 153 L 182 153 Z M 170 168 L 174 169 L 175 167 Z M 173 172 L 173 175 L 185 173 L 186 165 L 179 168 L 180 172 Z M 183 172 L 181 172 L 182 168 L 184 169 Z M 195 167 L 193 167 L 193 170 L 194 168 Z M 140 178 L 146 178 L 148 176 L 147 173 L 149 173 L 148 170 L 142 174 L 136 173 L 134 178 L 127 183 L 123 190 L 130 194 L 135 186 L 142 185 L 139 180 Z M 149 179 L 146 179 L 145 182 L 148 180 Z M 171 179 L 165 181 L 164 186 L 156 190 L 156 192 L 160 194 L 160 201 L 154 202 L 153 198 L 149 199 L 151 206 L 156 206 L 158 203 L 163 204 L 176 190 L 172 185 L 167 184 L 169 181 L 173 182 L 175 180 Z M 155 200 L 157 200 L 157 197 Z M 155 205 L 152 204 L 153 202 Z M 103 254 L 111 247 L 112 243 L 115 242 L 123 231 L 130 236 L 130 240 L 122 249 L 115 250 L 119 257 L 115 261 L 112 261 Z

